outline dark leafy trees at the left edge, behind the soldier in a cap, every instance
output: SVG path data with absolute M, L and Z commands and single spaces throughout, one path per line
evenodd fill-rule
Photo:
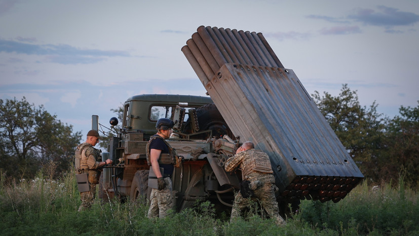
M 69 170 L 81 132 L 57 117 L 35 107 L 26 98 L 0 99 L 0 168 L 14 178 L 34 177 L 48 161 L 57 164 L 57 174 Z

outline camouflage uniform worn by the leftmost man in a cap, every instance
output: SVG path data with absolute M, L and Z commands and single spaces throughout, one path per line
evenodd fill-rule
M 77 148 L 82 149 L 82 159 L 80 162 L 81 170 L 77 174 L 88 173 L 88 175 L 97 174 L 97 176 L 99 176 L 100 172 L 97 170 L 99 167 L 99 161 L 97 160 L 99 160 L 100 151 L 88 143 L 83 143 Z M 91 178 L 89 178 L 90 190 L 80 193 L 82 204 L 79 207 L 79 212 L 86 210 L 93 205 L 96 195 L 96 184 L 97 182 L 92 183 Z

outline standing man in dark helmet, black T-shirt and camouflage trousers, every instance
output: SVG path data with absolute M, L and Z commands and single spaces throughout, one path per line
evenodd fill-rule
M 156 123 L 157 133 L 148 141 L 146 150 L 151 168 L 157 177 L 158 188 L 152 188 L 148 218 L 164 218 L 168 210 L 173 209 L 171 176 L 174 170 L 172 147 L 165 141 L 172 133 L 174 123 L 167 118 L 161 118 Z M 160 171 L 163 168 L 163 173 Z

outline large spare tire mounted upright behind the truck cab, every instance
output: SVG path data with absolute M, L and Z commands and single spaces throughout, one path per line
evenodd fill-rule
M 228 128 L 224 118 L 222 118 L 220 112 L 214 104 L 207 104 L 197 109 L 197 117 L 199 124 L 199 131 L 212 130 L 212 136 L 221 138 L 224 134 L 227 134 L 230 138 L 234 139 L 233 132 Z M 186 121 L 185 131 L 191 132 L 190 120 Z M 208 136 L 208 134 L 202 134 Z M 208 139 L 211 137 L 201 137 L 200 139 Z

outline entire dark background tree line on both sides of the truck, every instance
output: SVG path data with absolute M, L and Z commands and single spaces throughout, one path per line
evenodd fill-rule
M 368 182 L 397 182 L 403 177 L 410 187 L 419 187 L 419 105 L 401 106 L 400 114 L 389 118 L 377 112 L 375 102 L 361 106 L 357 91 L 347 84 L 337 96 L 315 91 L 312 97 Z M 122 118 L 121 108 L 111 111 Z M 70 170 L 74 149 L 82 139 L 80 131 L 73 132 L 72 125 L 63 124 L 24 97 L 20 101 L 0 99 L 0 115 L 3 173 L 31 179 L 49 161 L 57 163 L 57 176 Z

